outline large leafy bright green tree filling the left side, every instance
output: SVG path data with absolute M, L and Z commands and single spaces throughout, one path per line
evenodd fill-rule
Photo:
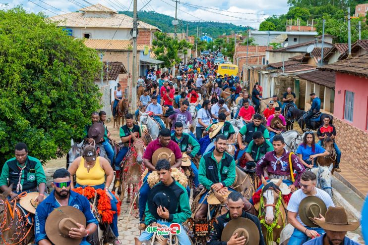
M 100 107 L 96 50 L 20 6 L 0 10 L 0 43 L 0 163 L 17 142 L 43 163 L 61 157 Z

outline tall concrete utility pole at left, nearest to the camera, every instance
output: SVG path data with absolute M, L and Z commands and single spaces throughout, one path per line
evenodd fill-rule
M 137 106 L 137 0 L 133 0 L 133 62 L 132 62 L 132 87 L 131 87 L 131 109 L 135 111 Z

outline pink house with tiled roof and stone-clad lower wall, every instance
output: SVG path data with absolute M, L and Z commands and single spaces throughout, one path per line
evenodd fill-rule
M 342 160 L 368 171 L 368 54 L 318 68 L 336 73 L 334 125 Z

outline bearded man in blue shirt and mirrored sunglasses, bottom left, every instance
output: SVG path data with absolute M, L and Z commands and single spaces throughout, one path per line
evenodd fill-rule
M 72 206 L 83 212 L 87 225 L 84 227 L 79 224 L 79 229 L 71 228 L 69 237 L 73 239 L 81 239 L 80 245 L 89 245 L 86 237 L 93 234 L 98 226 L 95 216 L 91 212 L 91 207 L 88 199 L 85 196 L 79 195 L 70 191 L 70 173 L 66 169 L 58 169 L 53 176 L 51 185 L 55 190 L 41 202 L 36 209 L 35 215 L 35 242 L 38 245 L 51 245 L 52 243 L 46 235 L 46 219 L 55 208 L 61 206 Z M 61 211 L 62 212 L 62 211 Z M 73 217 L 71 217 L 73 218 Z M 58 231 L 55 231 L 58 232 Z

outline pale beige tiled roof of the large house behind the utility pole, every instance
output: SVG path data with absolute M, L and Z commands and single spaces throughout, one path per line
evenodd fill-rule
M 101 17 L 86 17 L 84 13 L 73 12 L 56 15 L 49 18 L 52 21 L 60 21 L 58 26 L 65 27 L 104 27 L 104 28 L 133 28 L 133 18 L 125 14 L 113 13 L 111 17 L 101 15 Z M 139 21 L 138 29 L 156 29 L 158 27 Z

